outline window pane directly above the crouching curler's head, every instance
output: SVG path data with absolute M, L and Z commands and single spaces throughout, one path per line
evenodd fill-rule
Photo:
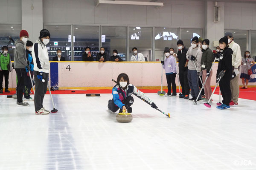
M 118 55 L 126 61 L 126 27 L 102 26 L 101 41 L 109 58 L 113 55 L 112 51 L 116 49 Z

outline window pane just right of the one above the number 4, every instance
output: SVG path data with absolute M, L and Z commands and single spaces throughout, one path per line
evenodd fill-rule
M 74 26 L 74 61 L 82 61 L 85 47 L 91 48 L 91 54 L 96 59 L 99 52 L 99 26 Z

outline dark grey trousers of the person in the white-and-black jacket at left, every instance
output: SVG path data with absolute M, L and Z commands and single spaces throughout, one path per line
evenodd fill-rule
M 35 96 L 34 96 L 34 103 L 35 103 L 35 111 L 39 111 L 41 108 L 43 108 L 43 101 L 44 101 L 44 95 L 47 92 L 47 83 L 49 79 L 48 73 L 43 73 L 43 79 L 44 82 L 42 82 L 37 77 L 38 71 L 34 71 L 34 77 L 35 77 Z

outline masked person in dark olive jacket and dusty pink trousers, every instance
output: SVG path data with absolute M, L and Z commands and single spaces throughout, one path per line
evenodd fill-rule
M 205 92 L 205 100 L 208 102 L 210 96 L 212 95 L 212 88 L 211 88 L 211 78 L 212 78 L 212 50 L 209 48 L 210 41 L 208 39 L 203 40 L 202 42 L 202 58 L 201 58 L 201 70 L 202 70 L 202 77 L 203 83 L 205 82 L 206 77 L 207 81 L 204 85 L 204 92 Z

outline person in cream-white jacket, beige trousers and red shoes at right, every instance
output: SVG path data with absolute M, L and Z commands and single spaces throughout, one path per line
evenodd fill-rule
M 228 45 L 233 50 L 232 55 L 232 66 L 233 66 L 233 75 L 230 81 L 231 88 L 231 102 L 230 107 L 238 106 L 238 97 L 239 97 L 239 65 L 241 65 L 241 48 L 234 42 L 233 34 L 231 32 L 226 32 L 225 36 L 228 38 Z

